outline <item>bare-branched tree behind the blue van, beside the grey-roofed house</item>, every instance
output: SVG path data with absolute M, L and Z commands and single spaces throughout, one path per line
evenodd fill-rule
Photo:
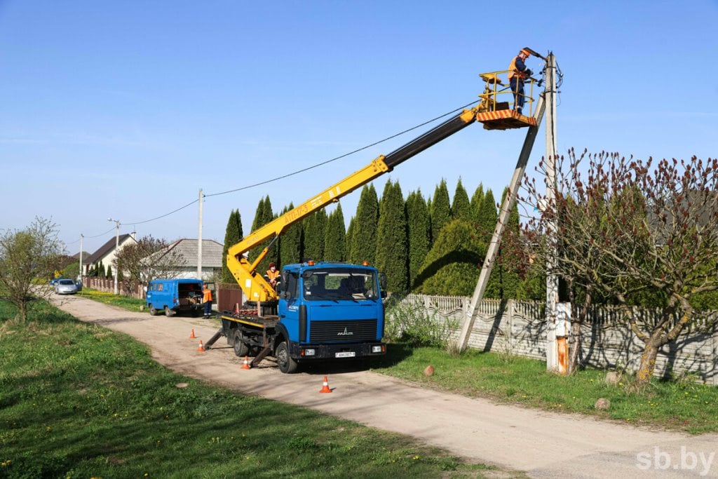
M 169 246 L 164 239 L 144 236 L 122 248 L 113 261 L 113 269 L 118 274 L 122 271 L 126 289 L 129 290 L 133 282 L 146 285 L 155 278 L 173 279 L 179 276 L 187 260 Z

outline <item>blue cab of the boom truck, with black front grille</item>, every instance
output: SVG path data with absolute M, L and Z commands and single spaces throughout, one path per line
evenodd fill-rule
M 386 352 L 380 275 L 358 264 L 309 261 L 282 271 L 278 329 L 289 358 L 366 358 Z M 281 352 L 278 352 L 278 354 Z M 281 358 L 277 357 L 278 362 Z

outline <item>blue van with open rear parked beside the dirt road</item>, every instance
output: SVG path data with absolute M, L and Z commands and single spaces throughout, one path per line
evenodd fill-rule
M 178 312 L 199 315 L 202 311 L 201 279 L 153 279 L 147 285 L 146 305 L 154 316 L 164 310 L 164 315 Z

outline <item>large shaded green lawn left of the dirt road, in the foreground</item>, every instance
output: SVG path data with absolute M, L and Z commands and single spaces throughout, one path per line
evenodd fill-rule
M 437 478 L 491 469 L 177 375 L 129 336 L 33 303 L 23 324 L 0 301 L 0 478 Z

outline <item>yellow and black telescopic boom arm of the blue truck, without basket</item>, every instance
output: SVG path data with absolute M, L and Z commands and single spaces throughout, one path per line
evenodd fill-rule
M 476 119 L 477 112 L 476 107 L 470 110 L 464 110 L 459 115 L 454 116 L 454 118 L 445 121 L 418 138 L 409 141 L 409 143 L 403 147 L 394 150 L 386 155 L 386 157 L 380 155 L 362 169 L 352 173 L 344 180 L 332 185 L 332 187 L 327 188 L 327 190 L 324 190 L 319 195 L 309 198 L 309 200 L 297 206 L 297 208 L 284 213 L 284 215 L 279 216 L 279 218 L 258 228 L 248 236 L 245 236 L 242 241 L 230 247 L 227 254 L 227 266 L 242 288 L 245 298 L 250 301 L 261 302 L 277 299 L 274 288 L 266 282 L 261 272 L 256 271 L 256 268 L 269 252 L 272 243 L 274 243 L 276 238 L 279 238 L 289 226 L 311 215 L 314 211 L 324 208 L 329 203 L 338 201 L 341 197 L 348 195 L 350 192 L 374 180 L 376 177 L 386 172 L 391 172 L 398 164 L 423 152 L 447 136 L 460 131 L 465 126 L 472 124 Z M 251 248 L 255 248 L 269 239 L 271 239 L 269 246 L 264 248 L 253 263 L 243 256 L 243 254 Z

